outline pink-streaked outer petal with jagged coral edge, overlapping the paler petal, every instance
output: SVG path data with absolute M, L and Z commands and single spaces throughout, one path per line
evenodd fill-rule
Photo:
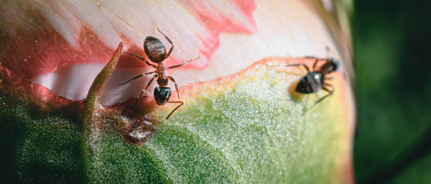
M 106 63 L 122 39 L 129 51 L 144 56 L 142 43 L 154 32 L 155 21 L 175 44 L 166 63 L 182 63 L 203 56 L 187 67 L 204 68 L 218 47 L 220 32 L 253 32 L 255 29 L 251 19 L 253 1 L 246 2 L 249 6 L 245 10 L 242 6 L 220 6 L 230 1 L 215 3 L 219 6 L 207 9 L 208 15 L 225 18 L 202 16 L 183 1 L 129 1 L 127 4 L 85 0 L 39 0 L 20 4 L 6 1 L 0 7 L 3 10 L 1 19 L 8 23 L 4 27 L 6 31 L 0 35 L 5 43 L 1 48 L 1 63 L 15 78 L 27 80 L 63 66 Z M 239 14 L 228 14 L 232 12 Z M 227 18 L 232 20 L 226 22 Z M 156 36 L 161 37 L 158 32 Z M 170 47 L 165 39 L 162 41 Z M 130 59 L 119 67 L 144 67 L 144 63 Z

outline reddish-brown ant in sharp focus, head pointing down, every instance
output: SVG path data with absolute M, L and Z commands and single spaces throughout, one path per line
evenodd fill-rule
M 131 54 L 128 52 L 125 52 L 125 54 L 129 54 L 132 56 L 136 56 L 138 59 L 141 59 L 142 61 L 145 61 L 145 63 L 148 66 L 151 66 L 153 68 L 156 68 L 156 70 L 151 71 L 149 73 L 142 73 L 141 75 L 137 75 L 135 78 L 131 78 L 130 80 L 127 80 L 124 83 L 121 83 L 119 85 L 125 85 L 127 82 L 130 82 L 132 80 L 135 80 L 137 78 L 141 78 L 144 75 L 149 75 L 151 73 L 156 73 L 154 74 L 153 78 L 151 78 L 151 80 L 148 82 L 148 85 L 146 85 L 145 90 L 142 90 L 141 94 L 139 94 L 139 97 L 137 98 L 136 102 L 130 106 L 130 109 L 133 108 L 133 106 L 135 106 L 135 104 L 137 104 L 137 102 L 139 101 L 139 99 L 142 97 L 142 93 L 148 92 L 147 89 L 148 87 L 151 85 L 151 82 L 153 82 L 153 80 L 155 78 L 157 78 L 157 84 L 158 86 L 156 88 L 154 88 L 154 100 L 156 100 L 158 105 L 163 105 L 165 103 L 171 103 L 171 104 L 180 104 L 177 107 L 175 107 L 175 109 L 173 109 L 173 111 L 170 112 L 170 114 L 166 117 L 166 120 L 168 120 L 169 116 L 171 114 L 173 114 L 173 112 L 175 110 L 177 110 L 178 108 L 180 108 L 180 106 L 182 106 L 184 104 L 184 102 L 180 101 L 180 93 L 178 92 L 178 86 L 177 86 L 177 82 L 175 82 L 174 78 L 171 76 L 166 76 L 165 75 L 165 69 L 171 69 L 171 68 L 178 68 L 180 66 L 185 66 L 187 63 L 189 63 L 190 61 L 194 61 L 196 59 L 199 59 L 200 57 L 197 57 L 195 59 L 190 59 L 189 61 L 185 61 L 184 63 L 181 63 L 179 65 L 175 65 L 175 66 L 170 66 L 168 68 L 165 68 L 165 65 L 163 63 L 163 61 L 165 59 L 167 59 L 170 56 L 170 53 L 173 50 L 174 44 L 172 41 L 170 41 L 170 39 L 168 38 L 168 36 L 166 36 L 163 32 L 161 32 L 161 30 L 158 29 L 157 25 L 154 24 L 154 26 L 156 27 L 156 29 L 158 30 L 158 32 L 160 32 L 167 40 L 170 44 L 172 44 L 172 46 L 170 47 L 168 54 L 166 54 L 166 48 L 163 45 L 163 43 L 160 41 L 160 39 L 156 38 L 156 37 L 152 37 L 152 36 L 148 36 L 145 38 L 144 41 L 144 51 L 146 56 L 148 56 L 148 58 L 150 59 L 150 61 L 157 63 L 157 64 L 151 64 L 149 63 L 149 61 L 146 61 L 146 59 L 144 59 L 143 57 L 137 55 L 137 54 Z M 168 101 L 170 98 L 170 87 L 168 87 L 168 82 L 169 80 L 171 80 L 172 82 L 174 82 L 175 84 L 175 90 L 177 91 L 177 95 L 178 95 L 178 100 L 179 101 Z

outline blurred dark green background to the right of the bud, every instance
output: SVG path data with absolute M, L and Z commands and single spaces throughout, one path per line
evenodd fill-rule
M 356 0 L 357 183 L 431 183 L 431 1 Z

